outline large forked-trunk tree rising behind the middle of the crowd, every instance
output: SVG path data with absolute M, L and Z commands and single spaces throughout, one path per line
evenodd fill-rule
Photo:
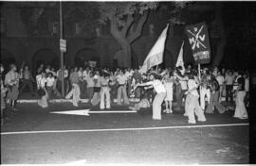
M 174 2 L 175 8 L 184 8 L 184 2 Z M 110 33 L 119 42 L 121 49 L 115 54 L 119 66 L 131 67 L 132 43 L 141 36 L 150 10 L 157 2 L 107 2 L 99 3 L 101 23 L 110 23 Z M 175 9 L 174 8 L 174 9 Z

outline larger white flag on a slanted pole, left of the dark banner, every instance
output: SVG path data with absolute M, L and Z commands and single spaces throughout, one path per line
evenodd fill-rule
M 144 60 L 143 66 L 139 69 L 139 73 L 146 73 L 152 66 L 163 62 L 164 45 L 167 36 L 168 26 L 162 31 L 155 45 L 150 50 L 147 58 Z

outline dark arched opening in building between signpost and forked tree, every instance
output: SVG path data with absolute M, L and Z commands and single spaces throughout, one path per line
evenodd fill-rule
M 101 58 L 98 55 L 97 51 L 91 48 L 83 48 L 78 51 L 74 60 L 75 66 L 84 67 L 84 63 L 92 60 L 97 62 L 97 66 L 100 66 Z

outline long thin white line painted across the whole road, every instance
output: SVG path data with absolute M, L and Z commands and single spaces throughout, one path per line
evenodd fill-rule
M 103 128 L 103 129 L 81 129 L 81 130 L 45 130 L 45 131 L 16 131 L 3 132 L 1 135 L 18 135 L 18 134 L 48 134 L 48 133 L 85 133 L 85 132 L 106 132 L 106 131 L 137 131 L 137 130 L 158 130 L 158 129 L 175 129 L 175 128 L 203 128 L 216 126 L 242 126 L 249 124 L 223 124 L 223 125 L 184 125 L 184 126 L 157 126 L 143 128 Z

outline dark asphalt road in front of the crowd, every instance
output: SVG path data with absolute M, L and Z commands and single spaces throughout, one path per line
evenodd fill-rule
M 73 108 L 70 103 L 54 104 L 45 109 L 36 104 L 20 104 L 18 108 L 17 114 L 9 114 L 10 123 L 2 127 L 3 164 L 64 164 L 83 159 L 88 164 L 226 164 L 248 163 L 249 159 L 248 125 L 213 126 L 248 123 L 232 118 L 232 111 L 207 114 L 207 122 L 196 124 L 212 125 L 208 127 L 111 131 L 116 128 L 188 126 L 188 123 L 182 112 L 162 114 L 162 121 L 153 121 L 150 113 L 90 116 L 50 113 L 89 108 L 86 104 L 79 108 Z M 112 110 L 128 108 L 115 106 Z M 89 131 L 91 129 L 110 130 Z M 49 130 L 73 132 L 4 135 L 7 132 Z

